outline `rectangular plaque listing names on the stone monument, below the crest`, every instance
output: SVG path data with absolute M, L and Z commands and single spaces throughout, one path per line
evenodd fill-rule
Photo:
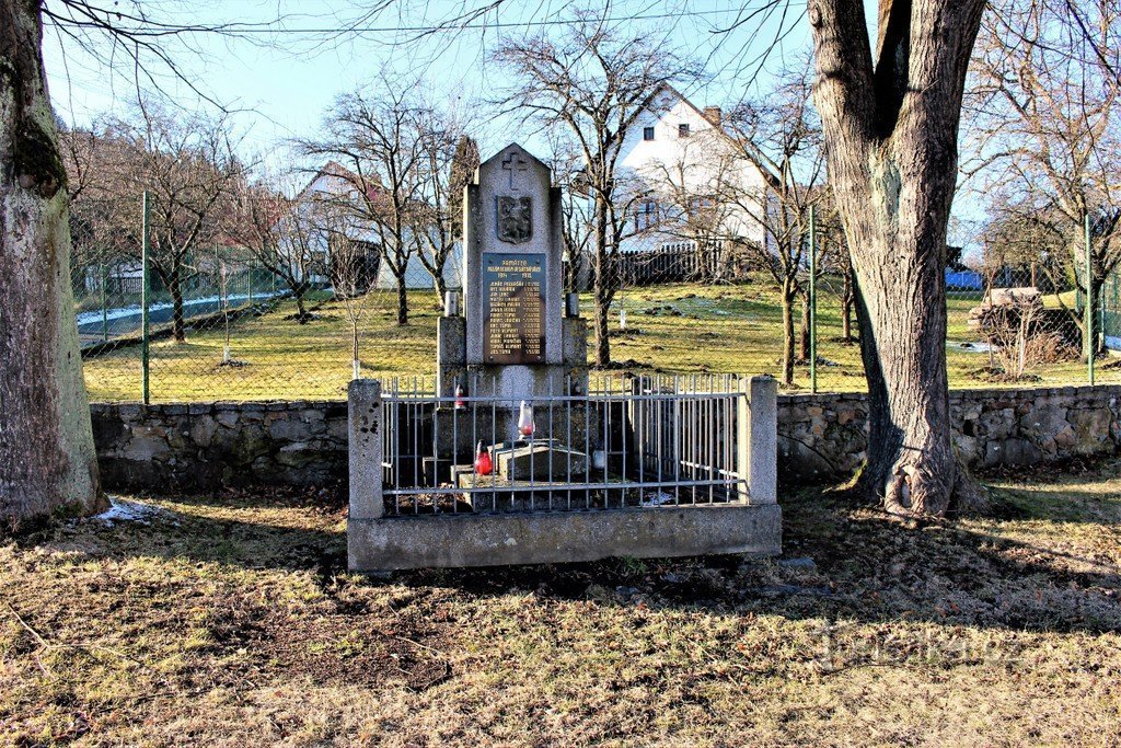
M 545 256 L 483 252 L 483 358 L 545 360 Z

